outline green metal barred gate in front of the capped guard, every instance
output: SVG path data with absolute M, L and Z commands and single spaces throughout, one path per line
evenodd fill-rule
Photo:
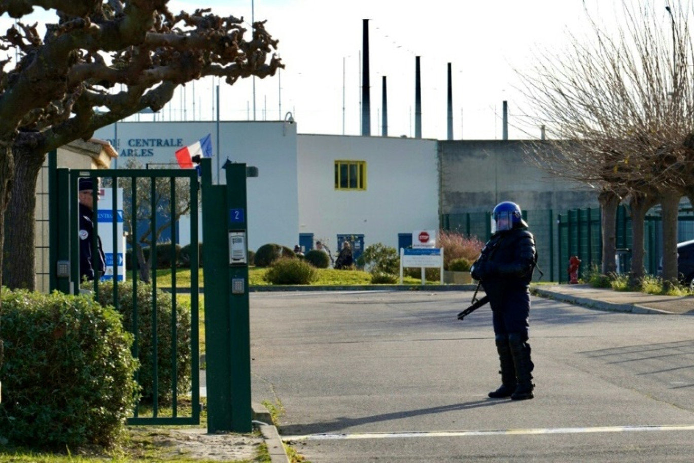
M 51 153 L 51 158 L 49 159 L 49 230 L 51 236 L 50 242 L 50 261 L 51 261 L 51 277 L 50 277 L 50 287 L 51 291 L 58 290 L 67 294 L 78 294 L 79 292 L 85 292 L 91 290 L 93 292 L 94 298 L 99 300 L 101 296 L 99 292 L 102 290 L 102 285 L 100 285 L 99 280 L 94 280 L 94 282 L 79 284 L 79 242 L 80 239 L 77 233 L 79 230 L 78 225 L 78 214 L 76 205 L 78 204 L 78 178 L 102 178 L 106 179 L 106 183 L 110 183 L 114 187 L 123 187 L 124 196 L 129 196 L 130 210 L 118 210 L 117 208 L 117 190 L 114 188 L 112 190 L 112 204 L 107 205 L 110 214 L 99 214 L 98 207 L 94 208 L 92 221 L 94 222 L 94 233 L 92 234 L 92 251 L 93 254 L 96 253 L 97 246 L 97 236 L 99 235 L 99 224 L 105 224 L 105 220 L 110 219 L 112 228 L 112 304 L 115 306 L 116 310 L 121 311 L 120 305 L 129 306 L 130 315 L 130 332 L 133 333 L 135 341 L 133 343 L 133 356 L 135 358 L 140 358 L 140 349 L 146 346 L 148 350 L 151 350 L 151 359 L 147 359 L 147 362 L 151 364 L 151 371 L 142 371 L 142 368 L 137 373 L 137 380 L 146 377 L 151 378 L 151 396 L 147 398 L 146 401 L 141 401 L 139 405 L 135 408 L 134 415 L 128 420 L 131 424 L 198 424 L 200 422 L 200 385 L 199 385 L 199 353 L 198 353 L 198 172 L 195 169 L 117 169 L 117 170 L 96 170 L 96 169 L 56 169 L 55 153 Z M 163 308 L 158 307 L 158 297 L 160 294 L 160 288 L 158 288 L 158 246 L 161 244 L 157 243 L 155 239 L 155 234 L 153 230 L 158 230 L 162 228 L 162 224 L 158 224 L 158 218 L 162 214 L 168 214 L 169 217 L 176 217 L 176 190 L 181 183 L 187 180 L 187 188 L 189 189 L 190 197 L 190 210 L 189 216 L 192 219 L 189 221 L 189 237 L 192 246 L 190 246 L 189 254 L 189 267 L 190 267 L 190 285 L 189 287 L 179 287 L 176 280 L 176 273 L 179 270 L 178 266 L 178 256 L 176 255 L 176 246 L 173 244 L 169 246 L 169 252 L 171 252 L 170 262 L 171 262 L 171 286 L 167 289 L 167 292 L 171 294 L 171 319 L 168 321 L 170 332 L 162 332 L 160 324 L 162 319 L 160 315 L 162 314 Z M 178 180 L 178 181 L 177 181 Z M 142 186 L 142 182 L 149 183 L 149 204 L 138 204 L 138 193 L 142 197 L 142 192 L 138 192 L 138 183 Z M 169 184 L 169 200 L 162 200 L 160 195 L 157 194 L 157 188 L 164 184 L 164 190 L 166 190 L 166 183 Z M 160 187 L 161 190 L 161 187 Z M 94 205 L 97 203 L 98 192 L 94 190 Z M 125 205 L 124 209 L 128 209 Z M 142 288 L 146 288 L 143 283 L 139 282 L 138 265 L 137 259 L 135 258 L 135 249 L 133 249 L 133 264 L 132 272 L 128 271 L 127 275 L 122 277 L 127 277 L 124 279 L 130 280 L 132 283 L 131 296 L 132 300 L 126 301 L 124 297 L 119 294 L 122 290 L 123 285 L 118 282 L 121 279 L 119 276 L 119 265 L 118 259 L 119 254 L 126 258 L 126 249 L 119 249 L 119 242 L 121 242 L 121 237 L 117 236 L 117 221 L 119 218 L 126 215 L 127 212 L 130 213 L 130 227 L 127 230 L 128 233 L 134 234 L 133 242 L 137 242 L 138 226 L 141 223 L 138 221 L 137 217 L 142 206 L 146 206 L 152 212 L 149 218 L 149 224 L 145 224 L 145 227 L 149 227 L 151 230 L 151 319 L 142 320 L 139 317 L 139 312 L 142 310 L 142 295 L 138 295 L 142 292 Z M 103 211 L 103 209 L 101 210 Z M 110 217 L 108 217 L 110 215 Z M 160 215 L 160 217 L 158 217 Z M 105 216 L 105 217 L 102 217 Z M 171 231 L 171 237 L 176 237 L 176 230 L 179 225 L 175 220 L 171 220 L 168 225 Z M 124 226 L 125 228 L 125 226 Z M 165 227 L 164 227 L 165 228 Z M 174 240 L 172 240 L 174 241 Z M 180 318 L 183 314 L 180 311 L 186 310 L 178 303 L 178 296 L 182 294 L 189 294 L 189 321 L 190 330 L 187 332 L 178 332 L 178 325 L 180 324 Z M 168 309 L 167 309 L 168 310 Z M 145 339 L 140 339 L 141 329 L 138 329 L 141 325 L 145 326 L 146 323 L 151 325 L 151 330 L 149 336 Z M 171 338 L 169 344 L 169 350 L 171 351 L 170 358 L 164 358 L 162 360 L 162 354 L 160 353 L 159 339 L 160 336 L 167 336 Z M 149 339 L 148 339 L 149 338 Z M 189 364 L 180 364 L 180 359 L 178 358 L 180 339 L 188 339 L 189 345 L 184 346 L 184 351 L 189 351 Z M 151 345 L 150 345 L 151 343 Z M 163 343 L 162 343 L 163 344 Z M 146 362 L 142 362 L 143 364 Z M 162 363 L 168 363 L 169 370 L 162 370 Z M 180 396 L 180 385 L 179 376 L 181 371 L 186 371 L 189 368 L 190 371 L 190 385 L 189 391 L 185 394 L 186 397 Z M 183 370 L 182 370 L 183 369 Z M 170 390 L 160 389 L 160 376 L 167 375 L 167 378 L 171 378 L 169 381 L 171 384 Z M 141 385 L 143 383 L 141 382 Z M 189 398 L 187 397 L 189 396 Z M 160 400 L 160 398 L 166 398 L 165 400 Z M 189 401 L 189 406 L 186 405 L 185 409 L 183 407 L 184 403 Z

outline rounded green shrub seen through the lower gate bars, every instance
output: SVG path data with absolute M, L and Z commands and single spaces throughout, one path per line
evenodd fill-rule
M 113 283 L 99 285 L 99 303 L 113 303 Z M 174 382 L 171 362 L 173 339 L 171 335 L 171 294 L 157 290 L 157 362 L 158 362 L 158 400 L 160 404 L 171 403 L 171 389 Z M 151 401 L 153 398 L 153 364 L 152 364 L 152 287 L 137 282 L 137 354 L 140 368 L 137 380 L 142 387 L 142 398 Z M 118 284 L 118 307 L 123 314 L 123 326 L 133 331 L 133 283 L 126 281 Z M 180 304 L 176 305 L 176 390 L 178 394 L 187 394 L 191 378 L 191 326 L 190 310 Z

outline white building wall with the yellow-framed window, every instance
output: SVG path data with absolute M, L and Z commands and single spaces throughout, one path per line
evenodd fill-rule
M 299 230 L 328 242 L 363 234 L 398 246 L 398 233 L 439 228 L 437 141 L 298 135 Z M 366 190 L 335 190 L 335 160 L 366 161 Z

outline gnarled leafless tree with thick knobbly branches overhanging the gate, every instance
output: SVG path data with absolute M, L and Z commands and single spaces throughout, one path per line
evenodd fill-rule
M 35 7 L 56 12 L 43 38 L 37 24 L 22 22 L 1 37 L 0 48 L 15 47 L 22 58 L 10 70 L 11 58 L 0 61 L 0 269 L 9 277 L 0 271 L 0 282 L 35 287 L 34 192 L 48 151 L 144 108 L 156 112 L 194 79 L 232 85 L 283 67 L 269 57 L 277 40 L 264 22 L 247 37 L 243 18 L 209 9 L 174 15 L 168 3 L 0 0 L 0 14 L 17 19 Z

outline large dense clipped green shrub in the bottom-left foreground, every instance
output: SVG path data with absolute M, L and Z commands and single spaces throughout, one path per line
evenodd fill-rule
M 120 315 L 84 296 L 2 297 L 0 436 L 40 447 L 114 444 L 137 391 Z

